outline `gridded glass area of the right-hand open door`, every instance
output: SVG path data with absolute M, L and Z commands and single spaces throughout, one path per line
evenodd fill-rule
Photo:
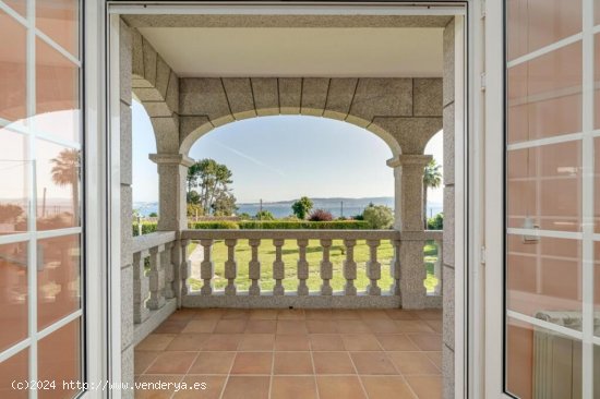
M 505 13 L 504 391 L 600 398 L 600 1 Z

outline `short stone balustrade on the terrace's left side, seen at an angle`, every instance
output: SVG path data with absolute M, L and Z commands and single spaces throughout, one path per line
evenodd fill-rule
M 179 247 L 173 231 L 134 237 L 133 323 L 134 341 L 140 342 L 176 309 L 176 276 Z M 173 256 L 175 255 L 175 256 Z

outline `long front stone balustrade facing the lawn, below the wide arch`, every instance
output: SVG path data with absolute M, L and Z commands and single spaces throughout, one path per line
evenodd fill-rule
M 320 289 L 310 291 L 307 280 L 309 279 L 309 262 L 307 249 L 309 240 L 319 241 L 321 261 L 319 262 Z M 334 267 L 329 254 L 334 240 L 339 240 L 344 246 L 344 262 L 341 270 L 338 271 L 344 278 L 344 287 L 334 291 L 332 279 Z M 355 247 L 358 241 L 364 241 L 368 246 L 368 259 L 364 263 L 363 273 L 368 285 L 364 291 L 356 287 L 358 277 L 358 263 L 355 259 Z M 240 241 L 247 241 L 250 259 L 243 265 L 236 256 L 236 247 Z M 382 263 L 377 255 L 377 247 L 383 241 L 389 241 L 393 247 L 393 258 L 389 264 L 392 277 L 391 287 L 382 287 Z M 403 254 L 403 242 L 411 241 L 416 244 L 412 247 L 419 249 L 416 264 L 403 262 L 403 259 L 416 258 Z M 434 241 L 437 245 L 437 262 L 434 265 L 434 275 L 437 278 L 435 291 L 428 294 L 423 280 L 425 279 L 425 267 L 422 249 L 427 241 Z M 195 277 L 199 286 L 192 290 L 189 278 L 191 276 L 191 261 L 188 254 L 188 245 L 194 242 L 201 245 L 202 256 L 197 261 L 200 269 Z M 225 259 L 220 278 L 225 279 L 223 290 L 215 289 L 215 259 L 213 247 L 217 242 L 225 244 Z M 264 264 L 259 256 L 261 244 L 268 242 L 274 246 L 274 259 Z M 286 264 L 283 259 L 284 245 L 286 242 L 293 242 L 297 253 L 295 265 L 295 289 L 287 290 L 284 287 L 286 279 Z M 410 245 L 406 245 L 408 250 Z M 418 303 L 420 307 L 440 307 L 442 287 L 442 232 L 404 232 L 395 230 L 185 230 L 180 234 L 180 258 L 182 259 L 179 277 L 181 279 L 181 303 L 189 307 L 397 307 L 403 301 Z M 410 254 L 409 254 L 410 255 Z M 420 258 L 420 261 L 419 261 Z M 406 263 L 406 264 L 405 264 Z M 314 265 L 313 265 L 314 266 Z M 264 290 L 261 282 L 264 282 L 263 267 L 269 270 L 271 285 L 273 289 Z M 288 265 L 289 267 L 289 265 Z M 238 289 L 238 270 L 248 270 L 249 286 L 247 290 Z M 287 278 L 289 278 L 289 269 Z M 403 288 L 404 276 L 411 279 L 410 289 Z M 245 273 L 244 273 L 245 276 Z M 405 281 L 405 286 L 406 286 Z M 408 287 L 408 286 L 407 286 Z M 199 288 L 199 289 L 197 289 Z M 404 299 L 404 295 L 418 295 L 419 299 Z

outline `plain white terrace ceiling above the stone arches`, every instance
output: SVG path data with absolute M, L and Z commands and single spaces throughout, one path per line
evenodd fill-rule
M 140 27 L 180 76 L 440 77 L 443 28 Z

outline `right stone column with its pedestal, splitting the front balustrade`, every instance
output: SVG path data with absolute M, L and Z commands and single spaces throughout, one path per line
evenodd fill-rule
M 405 154 L 391 159 L 396 177 L 396 220 L 403 232 L 423 231 L 423 173 L 430 155 Z M 403 238 L 400 245 L 400 299 L 404 309 L 425 307 L 427 277 L 423 262 L 423 240 Z

